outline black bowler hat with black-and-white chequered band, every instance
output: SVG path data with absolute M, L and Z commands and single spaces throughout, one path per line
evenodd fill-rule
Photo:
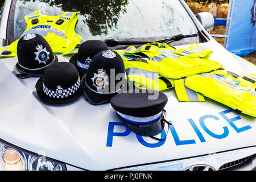
M 62 104 L 81 94 L 80 76 L 71 63 L 53 63 L 36 82 L 40 100 L 47 104 Z

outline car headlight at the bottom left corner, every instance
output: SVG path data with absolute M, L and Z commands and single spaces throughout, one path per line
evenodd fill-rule
M 66 171 L 65 164 L 0 141 L 0 171 Z

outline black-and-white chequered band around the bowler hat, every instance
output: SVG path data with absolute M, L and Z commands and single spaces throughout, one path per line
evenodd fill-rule
M 80 87 L 80 78 L 77 80 L 77 82 L 69 87 L 68 89 L 63 89 L 63 93 L 60 95 L 56 92 L 56 90 L 50 90 L 43 84 L 43 90 L 44 93 L 47 94 L 47 96 L 52 98 L 65 98 L 71 96 L 73 93 L 75 93 Z M 56 88 L 57 89 L 57 88 Z

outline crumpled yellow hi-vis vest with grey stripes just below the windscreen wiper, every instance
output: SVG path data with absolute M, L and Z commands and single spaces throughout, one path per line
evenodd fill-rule
M 148 43 L 135 51 L 123 51 L 126 56 L 147 56 L 148 64 L 160 68 L 159 75 L 173 79 L 222 68 L 222 64 L 209 60 L 212 52 L 197 44 L 193 44 L 187 49 L 176 50 L 164 43 Z

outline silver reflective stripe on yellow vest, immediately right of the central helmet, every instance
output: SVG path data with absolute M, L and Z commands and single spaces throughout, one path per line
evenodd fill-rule
M 156 80 L 158 78 L 158 72 L 150 72 L 139 68 L 127 68 L 125 69 L 127 75 L 138 75 L 144 78 L 149 78 L 151 80 Z

